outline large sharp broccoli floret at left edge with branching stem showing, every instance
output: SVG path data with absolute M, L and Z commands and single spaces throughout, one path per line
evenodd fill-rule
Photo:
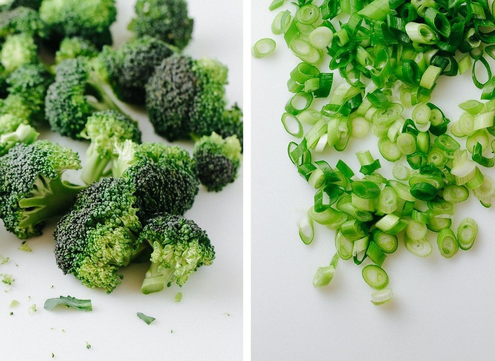
M 17 144 L 0 157 L 0 218 L 18 238 L 41 234 L 44 222 L 70 208 L 81 186 L 62 181 L 79 169 L 77 153 L 49 140 Z

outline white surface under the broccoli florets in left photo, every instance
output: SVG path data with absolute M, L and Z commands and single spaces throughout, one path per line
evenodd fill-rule
M 125 31 L 134 1 L 117 1 L 115 44 L 129 38 Z M 184 50 L 195 58 L 209 55 L 229 67 L 230 102 L 242 106 L 242 8 L 231 1 L 189 0 L 195 19 L 193 41 Z M 144 141 L 165 141 L 153 134 L 143 112 L 140 120 Z M 47 137 L 47 135 L 44 135 Z M 83 155 L 86 144 L 49 135 L 74 147 Z M 187 149 L 192 144 L 180 142 Z M 242 358 L 242 172 L 239 179 L 219 193 L 200 188 L 186 216 L 194 219 L 215 246 L 213 265 L 202 267 L 179 288 L 143 295 L 141 281 L 147 265 L 123 270 L 124 279 L 107 295 L 86 288 L 72 275 L 63 275 L 53 256 L 52 231 L 28 241 L 33 252 L 18 250 L 21 242 L 0 229 L 0 255 L 9 257 L 0 273 L 11 273 L 13 285 L 0 283 L 0 350 L 2 360 L 241 360 Z M 5 292 L 3 292 L 5 291 Z M 174 302 L 181 291 L 183 299 Z M 45 300 L 60 295 L 91 299 L 94 311 L 69 309 L 46 311 Z M 20 305 L 9 308 L 12 300 Z M 29 313 L 36 304 L 37 312 Z M 9 316 L 9 312 L 13 316 Z M 153 316 L 147 325 L 137 312 Z M 228 316 L 230 315 L 230 316 Z M 65 331 L 65 332 L 64 332 Z M 173 331 L 173 332 L 172 332 Z M 86 342 L 91 349 L 86 349 Z

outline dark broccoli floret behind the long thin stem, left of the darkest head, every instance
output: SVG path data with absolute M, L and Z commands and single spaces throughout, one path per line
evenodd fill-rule
M 173 53 L 172 46 L 149 36 L 125 42 L 116 50 L 105 47 L 102 57 L 117 97 L 128 103 L 144 104 L 148 78 Z

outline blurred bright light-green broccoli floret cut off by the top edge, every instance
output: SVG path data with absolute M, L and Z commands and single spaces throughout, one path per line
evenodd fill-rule
M 117 10 L 114 0 L 44 0 L 40 17 L 51 31 L 53 42 L 79 36 L 97 47 L 112 43 L 110 25 Z

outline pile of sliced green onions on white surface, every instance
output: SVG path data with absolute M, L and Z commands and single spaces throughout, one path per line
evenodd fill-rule
M 285 4 L 273 0 L 269 9 Z M 452 225 L 454 205 L 472 194 L 490 207 L 495 196 L 495 181 L 482 172 L 495 166 L 490 155 L 495 152 L 495 77 L 487 61 L 487 55 L 495 59 L 494 9 L 485 0 L 293 4 L 296 11 L 279 11 L 271 29 L 301 61 L 290 72 L 287 88 L 293 95 L 282 115 L 293 137 L 289 158 L 315 189 L 314 204 L 299 217 L 299 235 L 310 244 L 314 223 L 335 230 L 336 253 L 329 266 L 318 269 L 313 285 L 329 284 L 337 261 L 352 259 L 375 289 L 372 303 L 386 304 L 393 293 L 384 265 L 399 243 L 419 257 L 435 248 L 445 258 L 454 257 L 473 246 L 478 232 L 471 218 Z M 255 49 L 269 40 L 259 42 L 254 56 L 262 56 Z M 442 75 L 470 68 L 487 101 L 460 104 L 464 113 L 450 124 L 429 102 L 431 94 Z M 486 82 L 477 76 L 480 69 L 488 75 Z M 338 84 L 333 71 L 343 79 Z M 321 108 L 315 106 L 317 98 L 325 99 Z M 330 165 L 317 159 L 324 150 L 345 151 L 351 138 L 369 133 L 378 138 L 380 155 L 397 162 L 394 179 L 380 173 L 382 164 L 369 150 L 356 154 L 359 173 L 342 160 Z M 463 137 L 465 148 L 455 139 Z M 437 233 L 436 247 L 431 232 Z

